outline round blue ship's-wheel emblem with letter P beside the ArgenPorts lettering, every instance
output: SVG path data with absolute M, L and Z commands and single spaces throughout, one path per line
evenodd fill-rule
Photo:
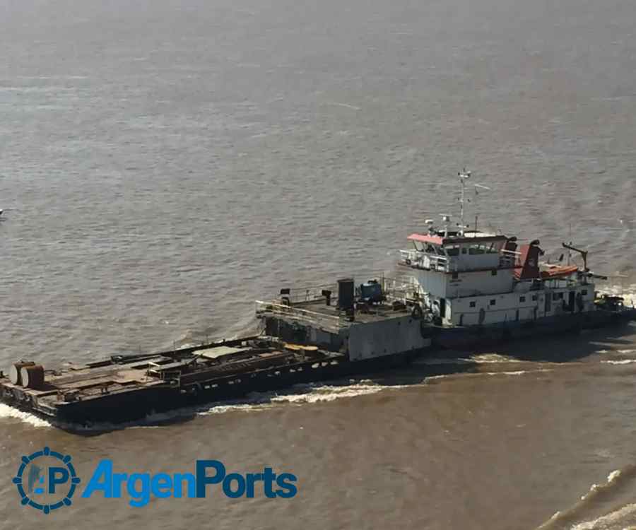
M 80 478 L 75 473 L 69 455 L 45 447 L 42 451 L 22 457 L 13 483 L 18 488 L 23 505 L 48 514 L 51 510 L 71 505 L 71 497 Z

